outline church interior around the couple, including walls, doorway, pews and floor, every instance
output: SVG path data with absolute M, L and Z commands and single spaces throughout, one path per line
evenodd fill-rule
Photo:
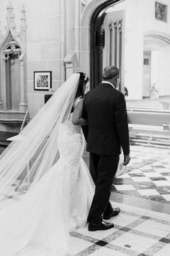
M 71 249 L 169 256 L 169 0 L 0 0 L 0 154 L 71 74 L 93 89 L 107 65 L 126 91 L 131 161 L 112 185 L 114 229 L 71 231 Z

